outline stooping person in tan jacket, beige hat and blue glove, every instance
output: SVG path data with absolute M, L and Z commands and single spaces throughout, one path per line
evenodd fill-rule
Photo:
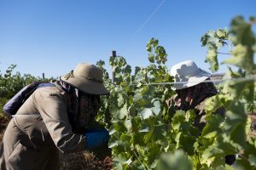
M 104 94 L 102 71 L 84 63 L 55 83 L 40 84 L 9 122 L 0 169 L 59 169 L 59 150 L 92 150 L 108 143 L 107 130 L 86 129 Z

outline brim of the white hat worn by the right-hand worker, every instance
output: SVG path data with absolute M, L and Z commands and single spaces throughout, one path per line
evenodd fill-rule
M 201 82 L 204 82 L 207 80 L 207 78 L 211 77 L 212 75 L 208 73 L 207 71 L 201 70 L 197 75 L 193 77 L 183 78 L 179 82 L 176 82 L 173 85 L 174 90 L 179 90 L 183 88 L 189 88 L 192 86 L 195 86 Z

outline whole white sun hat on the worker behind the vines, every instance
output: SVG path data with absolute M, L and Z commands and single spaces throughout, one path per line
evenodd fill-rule
M 176 90 L 195 86 L 212 76 L 207 71 L 198 68 L 192 60 L 185 60 L 177 63 L 177 65 L 173 65 L 171 75 L 175 78 L 175 82 L 177 82 L 173 86 Z

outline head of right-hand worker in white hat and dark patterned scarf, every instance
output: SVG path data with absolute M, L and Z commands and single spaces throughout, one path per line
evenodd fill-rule
M 194 61 L 185 60 L 173 65 L 171 75 L 175 79 L 173 88 L 177 92 L 174 103 L 177 109 L 188 111 L 204 104 L 204 101 L 217 94 L 210 80 L 211 74 L 201 70 Z

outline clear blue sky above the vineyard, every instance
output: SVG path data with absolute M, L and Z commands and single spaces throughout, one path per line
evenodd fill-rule
M 58 77 L 99 59 L 110 71 L 112 50 L 132 68 L 145 66 L 151 37 L 166 48 L 168 67 L 192 59 L 208 71 L 201 36 L 237 15 L 256 16 L 256 1 L 0 0 L 0 71 L 16 64 L 22 74 Z

